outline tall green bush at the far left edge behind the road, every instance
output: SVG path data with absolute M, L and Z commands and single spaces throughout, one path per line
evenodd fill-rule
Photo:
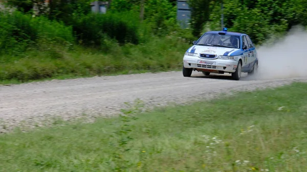
M 18 11 L 0 13 L 0 35 L 0 55 L 9 57 L 1 58 L 2 62 L 22 56 L 29 48 L 50 48 L 51 44 L 62 46 L 74 42 L 72 27 Z

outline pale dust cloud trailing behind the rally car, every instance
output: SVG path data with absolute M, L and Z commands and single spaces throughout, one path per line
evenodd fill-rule
M 258 73 L 254 79 L 281 79 L 307 76 L 307 32 L 302 27 L 290 30 L 273 45 L 257 48 Z

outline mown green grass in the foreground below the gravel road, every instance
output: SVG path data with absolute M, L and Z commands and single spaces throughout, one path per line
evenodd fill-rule
M 307 83 L 0 136 L 0 171 L 305 171 Z M 282 108 L 281 108 L 282 107 Z

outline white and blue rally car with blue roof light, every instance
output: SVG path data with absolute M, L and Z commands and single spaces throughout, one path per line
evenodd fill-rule
M 258 68 L 258 55 L 251 38 L 244 33 L 210 31 L 204 33 L 185 52 L 183 76 L 190 77 L 192 71 L 210 73 L 231 73 L 234 80 L 242 72 L 253 74 Z

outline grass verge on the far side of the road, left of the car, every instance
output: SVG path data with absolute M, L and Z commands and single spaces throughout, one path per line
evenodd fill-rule
M 178 70 L 190 44 L 171 35 L 139 45 L 119 46 L 111 41 L 101 50 L 41 46 L 48 51 L 0 56 L 0 84 Z

